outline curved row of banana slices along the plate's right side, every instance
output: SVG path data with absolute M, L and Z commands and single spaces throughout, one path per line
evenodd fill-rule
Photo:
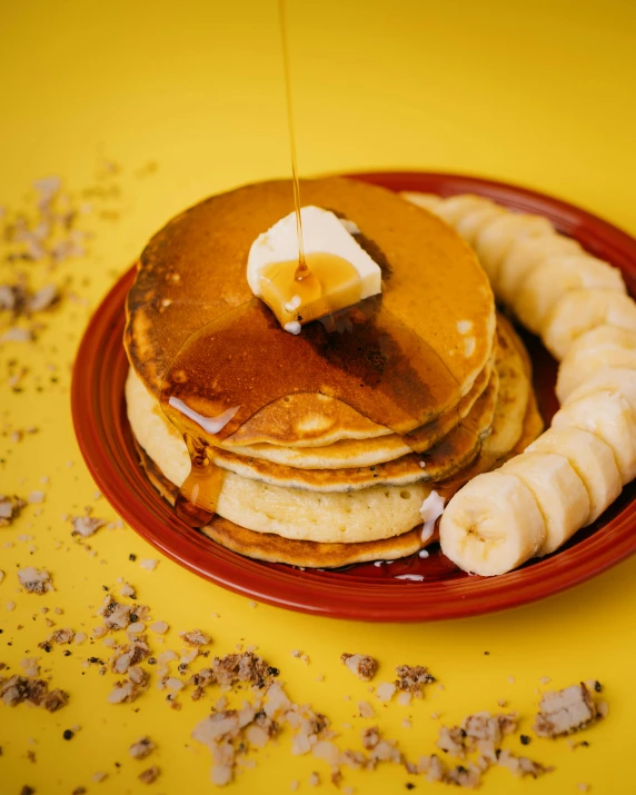
M 618 269 L 543 217 L 471 195 L 404 196 L 475 248 L 497 299 L 560 362 L 551 427 L 470 480 L 441 516 L 447 557 L 466 572 L 504 574 L 558 549 L 636 476 L 636 304 Z

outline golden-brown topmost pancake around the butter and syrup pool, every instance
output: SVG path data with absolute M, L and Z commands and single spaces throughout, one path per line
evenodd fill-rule
M 375 306 L 390 312 L 423 346 L 430 346 L 440 368 L 450 376 L 453 389 L 436 391 L 434 382 L 425 385 L 430 399 L 418 417 L 403 416 L 399 423 L 387 425 L 407 433 L 433 421 L 470 390 L 491 351 L 493 294 L 474 252 L 439 219 L 375 186 L 339 178 L 307 180 L 301 183 L 301 198 L 304 205 L 331 209 L 357 223 L 360 242 L 382 266 L 382 296 Z M 292 209 L 289 181 L 252 185 L 195 206 L 152 238 L 128 297 L 125 342 L 132 367 L 156 397 L 188 337 L 251 300 L 246 280 L 249 248 L 260 232 Z M 265 331 L 275 334 L 277 329 L 268 329 L 268 318 L 259 311 Z M 296 356 L 297 361 L 305 360 L 305 354 L 298 354 L 300 346 L 307 350 L 311 335 L 322 334 L 308 329 L 299 337 L 285 335 L 285 359 Z M 247 346 L 248 354 L 252 348 Z M 264 352 L 267 350 L 275 348 Z M 330 391 L 329 378 L 334 376 L 326 366 L 320 371 L 320 350 L 314 355 L 309 347 L 312 358 L 307 359 L 307 372 L 298 364 L 295 367 L 295 390 L 300 394 L 284 394 L 264 405 L 226 441 L 294 447 L 388 434 L 381 415 L 369 418 L 352 407 L 359 405 L 355 378 L 347 385 L 349 391 L 335 390 L 341 399 L 332 396 L 334 390 L 331 396 L 320 394 Z M 211 351 L 212 360 L 221 356 L 221 348 Z M 355 356 L 348 361 L 355 364 Z M 276 372 L 285 361 L 267 364 Z M 186 384 L 179 395 L 188 405 L 206 416 L 218 414 L 205 390 L 189 395 L 189 387 Z M 381 396 L 374 392 L 374 397 L 380 406 Z

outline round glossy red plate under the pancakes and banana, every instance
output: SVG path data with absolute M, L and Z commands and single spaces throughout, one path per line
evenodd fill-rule
M 480 193 L 516 210 L 540 213 L 592 254 L 619 267 L 636 287 L 636 240 L 572 205 L 523 188 L 473 177 L 440 173 L 355 175 L 392 190 L 450 196 Z M 458 572 L 434 553 L 390 565 L 365 564 L 346 570 L 300 570 L 262 564 L 215 545 L 177 519 L 146 479 L 126 418 L 123 384 L 128 361 L 121 344 L 126 294 L 135 278 L 123 276 L 108 294 L 85 334 L 74 366 L 72 414 L 87 465 L 118 514 L 165 555 L 218 585 L 280 607 L 370 622 L 418 622 L 474 616 L 523 605 L 569 588 L 636 550 L 633 531 L 636 486 L 593 527 L 553 556 L 500 577 Z M 528 338 L 535 388 L 546 421 L 556 408 L 555 362 Z M 400 579 L 421 575 L 424 580 Z

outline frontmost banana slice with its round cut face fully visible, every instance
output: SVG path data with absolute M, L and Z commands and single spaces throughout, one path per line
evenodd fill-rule
M 448 503 L 439 523 L 441 550 L 459 568 L 491 577 L 534 557 L 546 525 L 530 489 L 515 475 L 473 478 Z

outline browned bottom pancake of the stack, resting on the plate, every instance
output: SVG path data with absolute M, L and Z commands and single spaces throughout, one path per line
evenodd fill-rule
M 141 465 L 148 479 L 170 505 L 175 505 L 178 488 L 161 473 L 143 448 L 135 441 Z M 437 530 L 425 543 L 421 540 L 421 526 L 392 538 L 357 544 L 321 544 L 319 541 L 299 541 L 277 536 L 274 533 L 255 533 L 239 527 L 221 516 L 200 530 L 217 544 L 239 555 L 267 563 L 285 563 L 305 568 L 339 568 L 356 563 L 370 560 L 397 560 L 419 551 L 439 540 Z

